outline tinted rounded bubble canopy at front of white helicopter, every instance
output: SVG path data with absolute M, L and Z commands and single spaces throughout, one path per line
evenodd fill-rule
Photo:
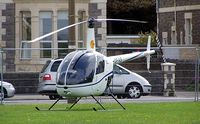
M 59 66 L 57 85 L 78 85 L 93 81 L 96 67 L 94 51 L 69 53 Z

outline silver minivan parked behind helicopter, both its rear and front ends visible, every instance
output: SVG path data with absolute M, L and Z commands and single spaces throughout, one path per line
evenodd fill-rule
M 38 93 L 48 95 L 50 99 L 59 97 L 56 92 L 56 72 L 61 61 L 62 59 L 47 61 L 39 75 Z M 105 93 L 109 92 L 118 98 L 140 98 L 151 93 L 151 84 L 144 77 L 115 65 L 110 89 Z

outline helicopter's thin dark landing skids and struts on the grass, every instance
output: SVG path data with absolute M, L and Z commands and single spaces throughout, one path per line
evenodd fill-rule
M 125 107 L 114 97 L 113 94 L 111 94 L 112 98 L 122 107 L 123 110 L 126 110 Z M 97 102 L 97 104 L 99 104 L 99 106 L 105 111 L 105 107 L 93 96 L 91 95 L 91 97 Z M 38 111 L 51 111 L 52 108 L 58 103 L 58 101 L 60 101 L 62 97 L 59 97 L 48 109 L 40 109 L 39 107 L 35 107 L 36 110 Z M 70 111 L 81 99 L 82 97 L 79 97 L 68 109 L 66 108 L 65 111 Z M 99 111 L 96 108 L 93 108 L 94 111 Z

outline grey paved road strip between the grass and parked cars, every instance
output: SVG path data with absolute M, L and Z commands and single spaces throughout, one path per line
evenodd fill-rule
M 200 94 L 199 94 L 200 97 Z M 111 97 L 96 97 L 102 103 L 115 102 Z M 118 99 L 121 103 L 149 103 L 149 102 L 188 102 L 195 101 L 194 92 L 176 92 L 175 97 L 163 96 L 143 96 L 139 99 Z M 200 99 L 199 99 L 200 101 Z M 49 100 L 48 96 L 37 94 L 23 95 L 17 94 L 12 98 L 6 98 L 4 104 L 41 104 L 53 103 L 55 100 Z M 67 103 L 66 99 L 60 100 L 59 103 Z M 79 103 L 95 103 L 91 97 L 82 98 Z

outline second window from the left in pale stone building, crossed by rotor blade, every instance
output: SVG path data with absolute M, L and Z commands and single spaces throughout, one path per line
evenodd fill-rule
M 40 36 L 52 32 L 52 12 L 40 12 Z M 52 35 L 40 41 L 40 58 L 51 58 L 52 52 Z

